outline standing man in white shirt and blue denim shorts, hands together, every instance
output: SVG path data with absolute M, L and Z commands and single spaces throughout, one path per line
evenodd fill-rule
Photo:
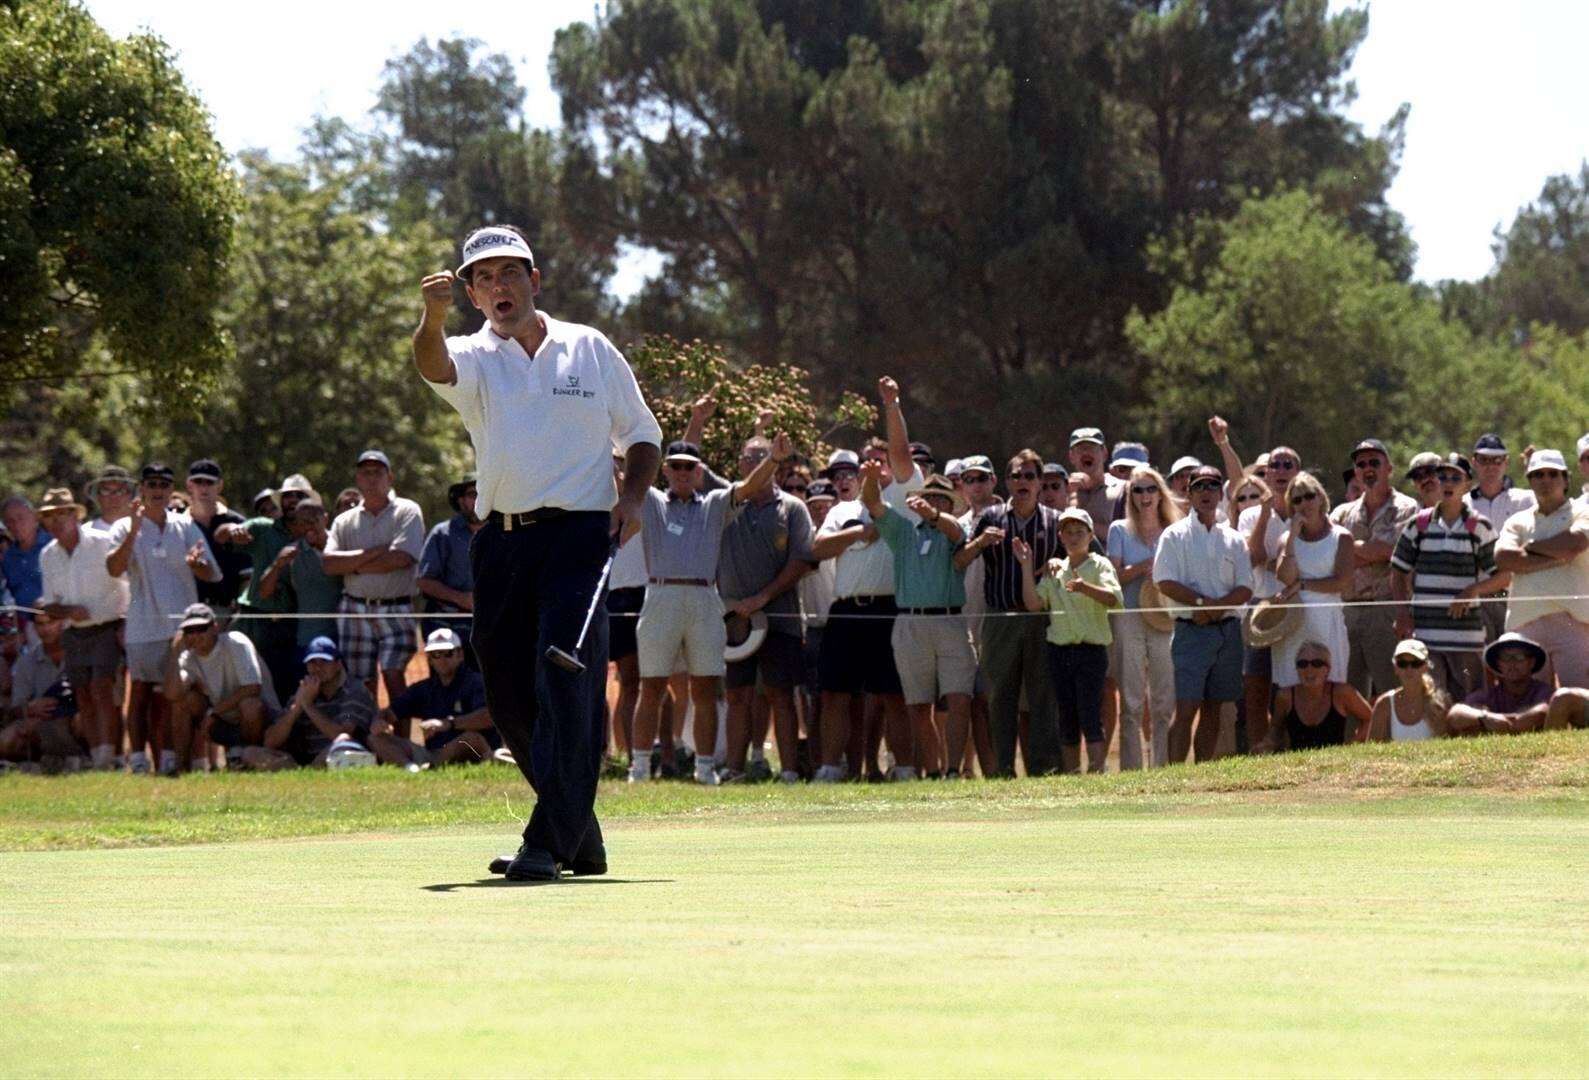
M 1252 557 L 1241 534 L 1219 521 L 1225 476 L 1212 465 L 1192 470 L 1192 513 L 1165 529 L 1154 557 L 1154 584 L 1184 605 L 1170 651 L 1176 665 L 1176 718 L 1170 761 L 1185 761 L 1197 721 L 1197 759 L 1219 746 L 1220 707 L 1241 697 L 1241 619 L 1252 599 Z M 1198 716 L 1201 715 L 1201 719 Z

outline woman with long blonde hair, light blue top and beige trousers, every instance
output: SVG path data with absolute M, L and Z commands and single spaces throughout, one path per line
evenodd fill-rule
M 1109 562 L 1125 591 L 1125 610 L 1111 629 L 1119 650 L 1119 686 L 1123 702 L 1120 718 L 1120 769 L 1142 767 L 1142 696 L 1147 691 L 1154 713 L 1154 764 L 1170 761 L 1170 721 L 1176 716 L 1176 667 L 1170 658 L 1170 634 L 1155 631 L 1135 610 L 1141 607 L 1142 583 L 1154 575 L 1154 556 L 1165 527 L 1181 519 L 1181 507 L 1158 470 L 1138 465 L 1125 492 L 1125 518 L 1109 524 Z

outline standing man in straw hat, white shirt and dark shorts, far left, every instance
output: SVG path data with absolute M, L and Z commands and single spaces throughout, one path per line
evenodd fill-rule
M 78 700 L 95 769 L 114 767 L 114 732 L 121 707 L 121 627 L 127 616 L 127 583 L 110 575 L 110 537 L 83 529 L 87 511 L 65 488 L 44 492 L 38 518 L 54 542 L 40 553 L 44 611 L 67 621 L 67 681 Z

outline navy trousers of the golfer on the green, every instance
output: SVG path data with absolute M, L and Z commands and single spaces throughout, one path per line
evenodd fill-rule
M 591 619 L 578 653 L 583 672 L 550 662 L 547 648 L 574 651 L 607 561 L 609 521 L 607 513 L 567 513 L 504 529 L 494 519 L 469 545 L 472 637 L 486 707 L 535 789 L 524 842 L 559 862 L 601 845 L 596 780 L 605 750 L 607 619 Z

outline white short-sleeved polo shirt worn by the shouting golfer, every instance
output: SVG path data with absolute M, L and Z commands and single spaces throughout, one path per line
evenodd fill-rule
M 663 445 L 623 353 L 601 332 L 540 313 L 547 337 L 529 357 L 489 326 L 447 338 L 458 380 L 431 383 L 475 445 L 475 513 L 540 507 L 612 510 L 613 453 Z

